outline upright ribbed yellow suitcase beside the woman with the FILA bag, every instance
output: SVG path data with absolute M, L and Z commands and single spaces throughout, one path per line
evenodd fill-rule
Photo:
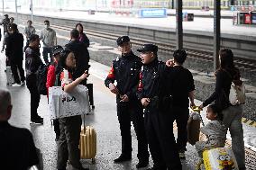
M 79 148 L 81 159 L 92 159 L 92 163 L 96 163 L 96 130 L 91 126 L 82 127 Z

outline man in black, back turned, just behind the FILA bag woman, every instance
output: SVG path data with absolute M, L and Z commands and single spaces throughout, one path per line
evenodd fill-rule
M 89 68 L 89 52 L 85 43 L 79 41 L 79 31 L 73 29 L 70 31 L 70 42 L 65 45 L 66 49 L 74 52 L 76 57 L 76 69 L 73 77 L 76 79 L 83 75 Z M 81 82 L 81 85 L 87 85 L 87 79 Z

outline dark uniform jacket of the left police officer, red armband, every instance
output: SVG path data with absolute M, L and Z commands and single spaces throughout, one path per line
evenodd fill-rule
M 136 89 L 140 80 L 141 67 L 141 58 L 135 56 L 132 51 L 126 56 L 122 55 L 121 58 L 114 59 L 111 70 L 105 79 L 105 86 L 108 87 L 110 83 L 116 81 L 119 94 L 128 95 L 129 101 L 137 101 Z M 120 95 L 117 95 L 116 102 L 119 103 L 119 101 Z

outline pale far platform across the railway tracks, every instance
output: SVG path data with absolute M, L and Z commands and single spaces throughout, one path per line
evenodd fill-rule
M 12 13 L 11 16 L 15 18 L 14 10 L 5 10 L 6 13 Z M 189 10 L 184 10 L 184 12 L 189 12 Z M 192 10 L 192 13 L 208 13 L 212 14 L 213 11 L 201 12 L 200 10 Z M 18 13 L 30 14 L 28 10 L 19 10 Z M 171 12 L 173 13 L 173 11 Z M 223 12 L 225 15 L 230 15 L 228 11 Z M 168 16 L 166 18 L 138 18 L 133 15 L 125 15 L 115 13 L 95 13 L 88 14 L 87 12 L 79 11 L 36 11 L 34 15 L 45 16 L 45 17 L 57 17 L 62 19 L 72 19 L 75 21 L 83 22 L 102 22 L 114 25 L 124 25 L 124 26 L 135 26 L 138 28 L 151 28 L 155 30 L 175 30 L 176 29 L 176 17 Z M 183 22 L 184 32 L 187 33 L 197 33 L 206 34 L 207 32 L 214 31 L 214 19 L 195 17 L 194 22 Z M 256 31 L 255 27 L 251 25 L 233 25 L 233 19 L 222 19 L 221 20 L 221 32 L 222 34 L 235 35 L 241 37 L 245 40 L 256 41 Z

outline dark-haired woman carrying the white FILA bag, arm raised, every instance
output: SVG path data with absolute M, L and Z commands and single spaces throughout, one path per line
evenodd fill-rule
M 59 65 L 63 67 L 63 72 L 60 74 L 61 86 L 64 92 L 69 93 L 78 86 L 81 81 L 85 80 L 87 71 L 79 76 L 77 79 L 73 78 L 72 70 L 76 68 L 76 58 L 74 53 L 65 49 L 61 51 L 59 58 Z M 67 162 L 78 170 L 85 170 L 80 160 L 80 150 L 78 148 L 80 131 L 81 131 L 82 119 L 81 115 L 71 116 L 66 118 L 59 118 L 60 137 L 58 143 L 58 158 L 57 168 L 58 170 L 66 169 Z

